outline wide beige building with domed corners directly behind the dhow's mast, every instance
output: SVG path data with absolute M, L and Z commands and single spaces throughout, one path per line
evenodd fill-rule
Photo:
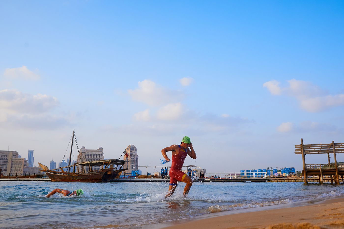
M 86 162 L 86 161 L 100 161 L 100 160 L 104 160 L 104 150 L 103 147 L 99 147 L 96 150 L 86 150 L 85 146 L 83 146 L 80 150 L 79 150 L 79 154 L 78 154 L 78 158 L 76 160 L 76 162 Z M 88 171 L 88 167 L 84 166 L 85 170 Z M 100 166 L 93 166 L 92 170 L 99 170 Z M 79 165 L 77 166 L 76 170 L 78 172 L 82 172 L 82 166 Z

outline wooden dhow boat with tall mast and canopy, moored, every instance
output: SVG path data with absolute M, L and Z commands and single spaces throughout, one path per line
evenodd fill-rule
M 46 175 L 54 182 L 109 182 L 119 177 L 123 171 L 122 169 L 126 161 L 118 159 L 85 161 L 70 164 L 72 157 L 73 139 L 75 132 L 72 135 L 71 154 L 69 155 L 69 165 L 65 167 L 50 170 L 46 165 L 38 163 L 41 166 L 40 171 L 44 171 Z M 76 140 L 76 138 L 75 138 Z M 76 142 L 77 145 L 77 142 Z M 78 149 L 79 152 L 79 149 Z M 124 152 L 123 152 L 124 153 Z M 82 159 L 82 155 L 80 156 Z M 99 166 L 98 170 L 92 170 L 94 166 Z M 75 171 L 77 169 L 77 172 Z M 71 172 L 73 170 L 73 172 Z

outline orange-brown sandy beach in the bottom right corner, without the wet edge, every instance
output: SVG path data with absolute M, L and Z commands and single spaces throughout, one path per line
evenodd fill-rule
M 181 222 L 181 221 L 179 221 Z M 344 198 L 324 200 L 316 204 L 281 209 L 265 209 L 190 220 L 165 229 L 176 228 L 265 228 L 320 229 L 344 228 Z

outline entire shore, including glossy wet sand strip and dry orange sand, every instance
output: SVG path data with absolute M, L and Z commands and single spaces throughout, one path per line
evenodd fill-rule
M 344 197 L 214 212 L 139 228 L 344 228 Z M 136 227 L 135 227 L 136 228 Z

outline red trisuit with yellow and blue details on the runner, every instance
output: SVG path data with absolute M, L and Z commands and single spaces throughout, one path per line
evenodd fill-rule
M 186 174 L 181 171 L 185 157 L 187 155 L 187 149 L 183 149 L 180 145 L 179 153 L 177 155 L 172 154 L 172 164 L 170 168 L 170 185 L 177 185 L 178 181 L 183 181 Z

